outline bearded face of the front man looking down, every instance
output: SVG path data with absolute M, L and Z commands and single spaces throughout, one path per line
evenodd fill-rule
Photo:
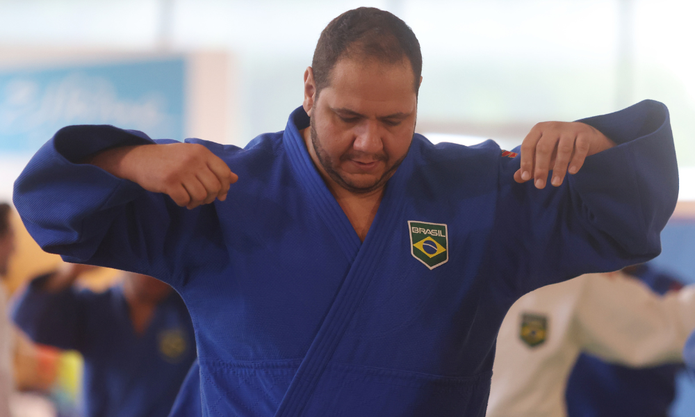
M 381 188 L 408 152 L 417 104 L 407 59 L 386 64 L 343 58 L 318 100 L 306 97 L 305 89 L 310 152 L 338 186 L 352 193 Z

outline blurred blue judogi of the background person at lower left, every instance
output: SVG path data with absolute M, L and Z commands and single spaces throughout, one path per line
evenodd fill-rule
M 195 360 L 193 326 L 179 295 L 156 307 L 136 334 L 121 286 L 104 293 L 40 290 L 34 279 L 13 307 L 17 325 L 37 343 L 84 357 L 85 417 L 166 417 Z

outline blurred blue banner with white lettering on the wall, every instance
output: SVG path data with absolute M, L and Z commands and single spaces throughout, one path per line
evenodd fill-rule
M 0 152 L 35 152 L 70 124 L 183 139 L 183 58 L 0 71 Z

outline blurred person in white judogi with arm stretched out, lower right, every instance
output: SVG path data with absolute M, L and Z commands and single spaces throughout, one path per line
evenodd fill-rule
M 628 366 L 677 363 L 693 329 L 695 286 L 661 297 L 610 272 L 539 288 L 502 322 L 487 416 L 566 416 L 565 387 L 582 351 Z

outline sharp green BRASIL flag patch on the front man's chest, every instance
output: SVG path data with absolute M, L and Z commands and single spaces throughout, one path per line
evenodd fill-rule
M 410 253 L 431 270 L 449 260 L 446 224 L 408 221 Z

